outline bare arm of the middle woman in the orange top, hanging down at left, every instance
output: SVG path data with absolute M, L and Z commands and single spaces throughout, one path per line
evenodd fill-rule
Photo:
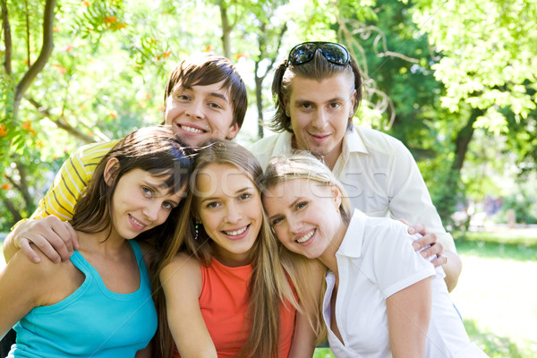
M 166 314 L 175 345 L 182 358 L 217 358 L 200 310 L 200 262 L 179 253 L 163 268 L 160 283 L 166 295 Z

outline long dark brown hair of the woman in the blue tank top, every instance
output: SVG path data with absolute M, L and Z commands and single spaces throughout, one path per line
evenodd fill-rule
M 118 167 L 111 183 L 105 181 L 105 168 L 115 158 Z M 112 230 L 112 197 L 119 179 L 132 169 L 142 169 L 165 179 L 169 192 L 179 192 L 188 184 L 192 173 L 192 154 L 186 150 L 176 134 L 166 126 L 142 128 L 118 141 L 101 159 L 90 183 L 74 207 L 71 225 L 85 233 Z M 166 222 L 137 236 L 137 240 L 153 239 L 159 248 L 169 242 L 175 231 L 178 212 L 172 210 Z M 108 233 L 109 233 L 108 232 Z M 168 233 L 163 235 L 163 233 Z M 162 249 L 164 250 L 164 249 Z

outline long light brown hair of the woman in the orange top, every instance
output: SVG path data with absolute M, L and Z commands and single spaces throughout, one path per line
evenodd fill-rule
M 231 141 L 213 141 L 200 149 L 195 158 L 191 188 L 194 187 L 192 184 L 196 183 L 200 171 L 209 164 L 235 166 L 243 171 L 252 183 L 257 183 L 256 179 L 262 173 L 259 162 L 247 149 Z M 195 239 L 195 214 L 195 191 L 191 190 L 184 202 L 183 212 L 175 232 L 175 244 L 166 257 L 159 262 L 158 274 L 174 259 L 177 251 L 186 251 L 200 260 L 200 264 L 209 266 L 214 256 L 214 243 L 202 226 L 199 226 L 198 239 Z M 298 308 L 284 267 L 274 252 L 277 252 L 277 241 L 263 211 L 260 233 L 251 248 L 253 271 L 249 287 L 250 304 L 247 324 L 244 327 L 244 329 L 249 329 L 249 335 L 243 346 L 242 356 L 276 357 L 280 322 L 279 303 L 288 301 Z M 156 303 L 159 322 L 157 356 L 167 358 L 173 353 L 174 341 L 167 326 L 166 299 L 161 289 L 156 290 Z

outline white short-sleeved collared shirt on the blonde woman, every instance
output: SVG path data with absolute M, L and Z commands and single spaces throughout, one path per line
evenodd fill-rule
M 427 357 L 486 357 L 473 345 L 449 299 L 442 268 L 434 268 L 413 250 L 414 236 L 406 226 L 389 218 L 367 217 L 354 210 L 351 223 L 336 253 L 339 286 L 337 328 L 330 328 L 330 299 L 335 276 L 328 272 L 324 320 L 328 342 L 338 357 L 391 357 L 386 299 L 432 277 L 432 309 L 427 333 Z

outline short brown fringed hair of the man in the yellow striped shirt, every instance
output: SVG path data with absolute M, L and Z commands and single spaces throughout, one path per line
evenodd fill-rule
M 170 96 L 176 86 L 189 89 L 192 86 L 209 86 L 220 81 L 224 81 L 222 85 L 224 89 L 229 89 L 233 107 L 232 125 L 238 124 L 241 128 L 248 107 L 246 86 L 234 64 L 221 55 L 192 57 L 178 64 L 166 83 L 164 105 L 166 106 L 166 98 Z

